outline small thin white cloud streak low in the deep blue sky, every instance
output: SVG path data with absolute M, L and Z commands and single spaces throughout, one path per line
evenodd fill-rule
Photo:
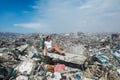
M 14 26 L 31 28 L 31 29 L 39 29 L 42 27 L 42 25 L 40 23 L 20 23 L 20 24 L 14 24 Z

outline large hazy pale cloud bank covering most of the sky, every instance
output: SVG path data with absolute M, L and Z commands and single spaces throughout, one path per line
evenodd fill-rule
M 36 23 L 14 26 L 47 32 L 116 32 L 120 29 L 120 0 L 37 0 L 32 8 L 35 12 L 31 21 Z

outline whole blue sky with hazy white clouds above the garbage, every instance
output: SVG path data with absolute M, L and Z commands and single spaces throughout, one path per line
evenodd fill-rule
M 0 0 L 0 32 L 120 32 L 120 0 Z

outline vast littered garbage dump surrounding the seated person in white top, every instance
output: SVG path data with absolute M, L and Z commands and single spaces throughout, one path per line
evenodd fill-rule
M 65 55 L 44 51 L 48 34 L 0 34 L 0 80 L 120 80 L 120 34 L 51 34 Z

